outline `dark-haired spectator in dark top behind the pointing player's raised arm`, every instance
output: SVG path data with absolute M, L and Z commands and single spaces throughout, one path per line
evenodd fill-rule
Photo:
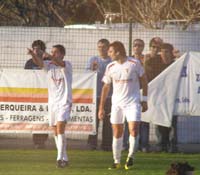
M 39 50 L 42 50 L 45 52 L 46 50 L 46 46 L 45 46 L 45 43 L 41 40 L 35 40 L 33 41 L 32 43 L 32 49 L 33 49 L 33 52 L 35 54 L 37 54 L 37 52 Z M 49 60 L 49 58 L 46 58 L 44 57 L 44 60 Z M 34 61 L 33 58 L 30 58 L 25 66 L 24 66 L 24 69 L 41 69 Z M 36 149 L 43 149 L 45 148 L 45 141 L 47 140 L 48 138 L 48 134 L 44 134 L 44 133 L 33 133 L 33 143 L 35 145 L 35 148 Z

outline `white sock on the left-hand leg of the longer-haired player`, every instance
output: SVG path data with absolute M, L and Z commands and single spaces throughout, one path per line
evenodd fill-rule
M 123 145 L 123 137 L 120 138 L 113 137 L 112 149 L 113 149 L 114 163 L 120 163 L 122 145 Z

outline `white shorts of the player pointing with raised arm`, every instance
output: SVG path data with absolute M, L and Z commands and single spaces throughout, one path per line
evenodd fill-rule
M 67 122 L 70 118 L 71 104 L 64 106 L 49 105 L 49 126 L 55 126 L 57 122 Z

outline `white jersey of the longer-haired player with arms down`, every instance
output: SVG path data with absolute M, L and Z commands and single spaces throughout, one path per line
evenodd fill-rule
M 113 83 L 112 105 L 126 106 L 140 102 L 139 77 L 144 74 L 141 63 L 127 57 L 123 64 L 113 61 L 106 67 L 102 81 Z

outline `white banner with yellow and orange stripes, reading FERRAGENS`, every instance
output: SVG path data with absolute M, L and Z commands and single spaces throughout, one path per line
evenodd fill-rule
M 42 70 L 0 71 L 0 132 L 48 133 L 47 75 Z M 74 73 L 66 131 L 95 134 L 96 73 Z

